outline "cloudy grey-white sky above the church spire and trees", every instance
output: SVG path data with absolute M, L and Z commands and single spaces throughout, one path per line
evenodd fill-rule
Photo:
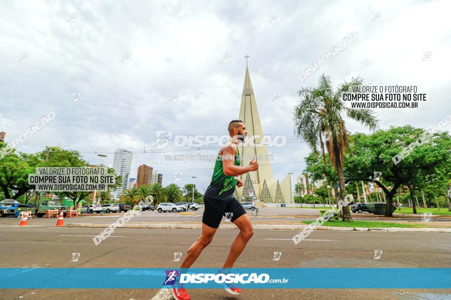
M 163 173 L 163 185 L 197 176 L 202 192 L 213 163 L 165 161 L 165 153 L 149 151 L 155 130 L 226 134 L 238 117 L 246 54 L 265 134 L 293 136 L 297 91 L 321 73 L 335 85 L 361 76 L 366 84 L 415 85 L 427 95 L 418 109 L 377 109 L 380 128 L 429 128 L 443 119 L 450 111 L 449 8 L 446 1 L 2 2 L 0 131 L 11 142 L 55 111 L 16 148 L 60 145 L 92 164 L 100 163 L 96 153 L 106 154 L 109 165 L 114 149 L 125 148 L 134 152 L 132 177 L 147 164 Z M 356 41 L 299 81 L 352 32 Z M 353 122 L 347 127 L 366 132 Z M 190 150 L 180 153 L 217 148 Z M 294 161 L 290 171 L 298 175 L 309 149 L 297 141 L 269 152 L 274 174 L 286 174 Z

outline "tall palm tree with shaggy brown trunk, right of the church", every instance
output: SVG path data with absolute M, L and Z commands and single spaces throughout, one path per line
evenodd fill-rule
M 302 137 L 314 152 L 318 152 L 319 146 L 323 148 L 321 135 L 329 133 L 325 144 L 329 159 L 337 173 L 339 197 L 343 201 L 346 195 L 343 154 L 347 146 L 347 131 L 343 116 L 363 124 L 370 130 L 375 130 L 379 121 L 370 109 L 351 109 L 344 105 L 342 93 L 348 91 L 351 85 L 361 85 L 362 82 L 360 77 L 352 78 L 350 82 L 345 81 L 334 91 L 330 77 L 323 74 L 318 86 L 303 87 L 299 90 L 301 100 L 294 110 L 295 134 Z M 352 222 L 347 205 L 342 206 L 342 218 L 343 221 Z

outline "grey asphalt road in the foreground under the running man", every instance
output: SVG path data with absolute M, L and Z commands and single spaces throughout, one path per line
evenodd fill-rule
M 34 221 L 33 221 L 34 222 Z M 198 229 L 126 229 L 95 246 L 101 228 L 0 227 L 0 267 L 117 267 L 177 268 L 173 252 L 185 255 Z M 218 230 L 213 242 L 193 267 L 219 267 L 226 259 L 237 230 Z M 293 230 L 255 230 L 235 267 L 450 267 L 451 235 L 442 233 L 315 231 L 295 245 Z M 382 250 L 379 260 L 374 251 Z M 279 261 L 273 261 L 281 251 Z M 71 262 L 72 253 L 80 253 Z M 356 282 L 359 278 L 349 279 Z M 152 299 L 155 289 L 3 289 L 0 299 Z M 451 290 L 290 289 L 243 290 L 239 296 L 213 289 L 192 289 L 192 299 L 425 299 L 451 298 Z M 441 294 L 439 297 L 434 298 Z M 424 298 L 423 298 L 424 299 Z

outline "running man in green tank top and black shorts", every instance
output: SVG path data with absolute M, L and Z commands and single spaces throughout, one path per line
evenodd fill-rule
M 240 232 L 232 242 L 229 256 L 222 266 L 223 269 L 232 268 L 254 234 L 251 220 L 246 211 L 238 200 L 233 197 L 235 187 L 239 188 L 244 185 L 243 180 L 239 179 L 238 176 L 258 170 L 258 163 L 255 160 L 252 160 L 249 166 L 240 167 L 241 160 L 237 146 L 238 142 L 242 142 L 247 134 L 248 132 L 243 121 L 233 120 L 230 122 L 229 135 L 232 138 L 232 143 L 219 150 L 212 181 L 203 195 L 205 209 L 202 216 L 202 233 L 188 249 L 187 256 L 180 266 L 182 269 L 190 268 L 202 250 L 211 243 L 222 217 L 226 216 L 226 214 L 231 216 L 230 221 L 240 229 Z M 224 285 L 224 288 L 234 295 L 241 293 L 241 289 L 230 285 Z M 191 299 L 185 288 L 181 286 L 173 286 L 172 294 L 176 300 Z

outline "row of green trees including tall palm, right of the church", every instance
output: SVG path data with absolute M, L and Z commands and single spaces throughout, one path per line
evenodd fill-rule
M 322 75 L 317 86 L 299 90 L 300 101 L 293 112 L 294 132 L 312 149 L 305 157 L 304 172 L 314 181 L 325 179 L 334 187 L 337 201 L 344 199 L 347 189 L 352 190 L 357 182 L 373 182 L 384 193 L 386 216 L 392 216 L 393 198 L 403 189 L 411 199 L 417 193 L 434 191 L 434 195 L 446 198 L 451 210 L 451 136 L 411 125 L 378 129 L 374 111 L 348 108 L 342 100 L 350 86 L 362 83 L 360 77 L 352 78 L 334 88 L 330 77 Z M 351 134 L 345 118 L 371 133 Z M 415 201 L 412 205 L 416 213 Z M 342 207 L 341 215 L 343 221 L 352 221 L 348 206 Z

